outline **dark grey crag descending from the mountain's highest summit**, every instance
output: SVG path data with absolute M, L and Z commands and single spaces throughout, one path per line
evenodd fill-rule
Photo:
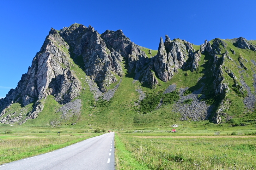
M 93 27 L 74 24 L 60 30 L 60 35 L 74 49 L 75 55 L 82 55 L 85 73 L 98 82 L 103 93 L 107 92 L 111 83 L 117 81 L 113 73 L 123 76 L 120 55 L 107 48 Z

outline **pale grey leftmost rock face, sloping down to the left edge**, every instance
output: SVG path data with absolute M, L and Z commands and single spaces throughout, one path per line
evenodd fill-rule
M 39 102 L 52 94 L 57 96 L 69 96 L 64 99 L 56 98 L 60 103 L 67 103 L 79 95 L 81 83 L 69 70 L 69 54 L 63 49 L 69 49 L 69 46 L 63 38 L 53 28 L 46 37 L 40 52 L 36 54 L 31 67 L 26 74 L 21 76 L 18 86 L 11 89 L 4 99 L 0 100 L 0 111 L 4 112 L 5 107 L 13 103 L 22 101 L 23 105 L 36 102 L 33 111 L 30 113 L 35 118 L 38 112 L 42 111 L 43 104 Z M 65 78 L 65 69 L 70 77 Z M 65 88 L 60 87 L 65 84 Z M 75 85 L 76 84 L 76 85 Z M 75 85 L 75 87 L 74 87 Z

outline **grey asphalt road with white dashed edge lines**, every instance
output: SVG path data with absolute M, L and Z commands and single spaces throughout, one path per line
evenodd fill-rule
M 114 132 L 46 154 L 0 165 L 0 170 L 114 170 Z

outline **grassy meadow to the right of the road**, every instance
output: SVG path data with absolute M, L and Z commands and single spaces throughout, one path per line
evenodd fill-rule
M 170 133 L 161 134 L 166 136 L 118 133 L 115 136 L 117 170 L 256 168 L 255 135 L 170 138 Z

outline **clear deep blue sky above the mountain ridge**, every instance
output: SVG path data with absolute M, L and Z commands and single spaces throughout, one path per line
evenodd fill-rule
M 99 33 L 123 30 L 134 43 L 157 49 L 160 37 L 256 39 L 255 0 L 1 1 L 0 98 L 15 88 L 51 27 L 92 25 Z

